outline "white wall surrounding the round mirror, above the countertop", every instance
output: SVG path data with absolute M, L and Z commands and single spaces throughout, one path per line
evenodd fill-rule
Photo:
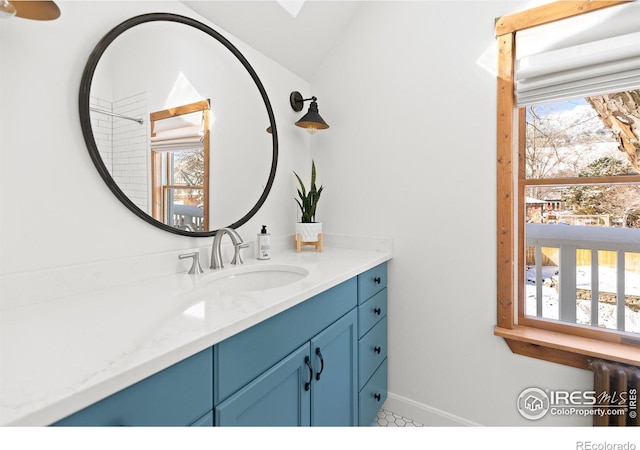
M 211 239 L 147 224 L 112 195 L 86 150 L 77 106 L 86 61 L 111 28 L 149 12 L 204 20 L 179 2 L 57 3 L 58 20 L 14 18 L 0 26 L 0 275 L 209 245 Z M 275 236 L 292 234 L 291 173 L 308 166 L 309 138 L 285 124 L 296 116 L 289 93 L 308 91 L 309 84 L 208 24 L 237 45 L 260 76 L 280 138 L 271 195 L 239 231 L 246 240 L 261 224 Z

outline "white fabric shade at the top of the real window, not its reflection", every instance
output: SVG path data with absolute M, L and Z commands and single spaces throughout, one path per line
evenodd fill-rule
M 595 16 L 599 20 L 594 21 L 591 16 L 591 23 L 582 23 L 580 27 L 575 27 L 576 22 L 554 24 L 556 28 L 564 25 L 564 36 L 569 37 L 565 40 L 576 45 L 551 42 L 544 33 L 546 30 L 534 30 L 522 45 L 517 42 L 514 75 L 518 106 L 640 88 L 638 6 L 624 5 L 625 17 L 633 19 L 627 20 L 628 25 L 621 26 L 621 11 L 615 7 L 603 10 L 602 14 L 611 10 L 609 14 L 617 13 L 617 19 Z M 576 36 L 571 35 L 572 26 L 580 29 Z M 616 31 L 625 34 L 611 36 Z M 531 50 L 534 46 L 537 48 Z M 545 47 L 547 50 L 541 49 Z

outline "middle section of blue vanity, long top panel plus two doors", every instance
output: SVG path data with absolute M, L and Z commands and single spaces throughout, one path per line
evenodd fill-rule
M 357 425 L 356 304 L 352 279 L 216 345 L 215 424 Z

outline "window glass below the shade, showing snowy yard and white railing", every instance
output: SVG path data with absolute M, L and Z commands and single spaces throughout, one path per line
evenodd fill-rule
M 545 319 L 640 337 L 640 177 L 609 128 L 618 100 L 635 97 L 640 89 L 525 108 L 518 323 Z

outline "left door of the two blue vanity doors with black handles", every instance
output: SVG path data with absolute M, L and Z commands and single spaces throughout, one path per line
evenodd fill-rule
M 307 343 L 218 405 L 216 425 L 309 426 L 312 377 Z

